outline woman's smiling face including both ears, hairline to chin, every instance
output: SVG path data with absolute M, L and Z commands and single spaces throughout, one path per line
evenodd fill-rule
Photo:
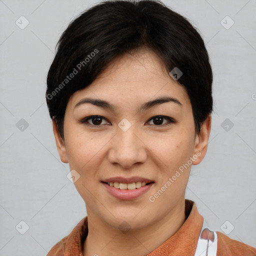
M 136 229 L 182 209 L 191 164 L 206 153 L 210 116 L 196 134 L 184 87 L 146 50 L 122 55 L 76 91 L 64 140 L 55 122 L 53 131 L 61 160 L 80 175 L 74 185 L 88 216 Z

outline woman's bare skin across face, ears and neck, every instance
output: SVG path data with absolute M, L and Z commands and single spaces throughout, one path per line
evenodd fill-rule
M 181 106 L 165 102 L 138 112 L 141 104 L 159 96 L 174 97 Z M 116 109 L 112 112 L 90 103 L 74 108 L 84 97 L 106 100 Z M 101 123 L 89 119 L 87 122 L 94 126 L 87 126 L 79 122 L 90 115 L 103 116 Z M 172 117 L 175 122 L 157 122 L 152 119 L 156 115 Z M 118 127 L 123 118 L 131 124 L 127 131 Z M 158 56 L 149 49 L 118 57 L 88 87 L 70 97 L 64 116 L 64 139 L 59 136 L 54 120 L 53 132 L 61 161 L 68 162 L 70 170 L 80 174 L 74 185 L 85 202 L 88 216 L 84 256 L 145 255 L 181 227 L 191 166 L 154 202 L 148 198 L 196 152 L 200 156 L 192 164 L 201 162 L 210 126 L 209 115 L 200 134 L 196 134 L 184 87 L 170 77 Z M 120 200 L 100 182 L 113 176 L 141 176 L 154 184 L 136 199 Z M 118 228 L 123 221 L 130 227 L 127 232 Z

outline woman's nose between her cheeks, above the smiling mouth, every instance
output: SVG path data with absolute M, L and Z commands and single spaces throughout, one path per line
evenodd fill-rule
M 118 128 L 110 141 L 108 160 L 112 164 L 121 165 L 123 168 L 131 168 L 135 163 L 145 162 L 146 151 L 142 135 L 134 125 L 131 125 L 126 131 Z

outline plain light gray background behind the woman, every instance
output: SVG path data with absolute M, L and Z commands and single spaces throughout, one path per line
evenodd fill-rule
M 229 237 L 256 246 L 256 0 L 163 2 L 200 30 L 214 72 L 208 152 L 192 166 L 186 198 L 210 229 L 234 226 Z M 46 255 L 86 215 L 59 159 L 44 93 L 57 39 L 95 3 L 0 0 L 0 255 Z M 21 15 L 24 29 L 15 23 Z

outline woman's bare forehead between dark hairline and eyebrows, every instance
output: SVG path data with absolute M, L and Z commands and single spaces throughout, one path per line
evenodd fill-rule
M 164 95 L 175 97 L 184 105 L 190 103 L 185 88 L 171 78 L 157 54 L 140 50 L 111 61 L 89 86 L 70 97 L 67 107 L 73 108 L 85 96 L 130 107 Z

